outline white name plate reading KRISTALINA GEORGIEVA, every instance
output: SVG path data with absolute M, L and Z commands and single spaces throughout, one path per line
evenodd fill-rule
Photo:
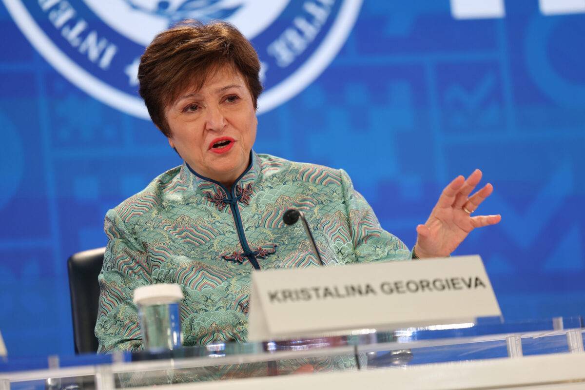
M 481 258 L 253 272 L 250 341 L 501 316 Z

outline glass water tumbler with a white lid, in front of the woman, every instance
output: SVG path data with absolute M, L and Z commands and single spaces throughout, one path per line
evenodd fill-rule
M 145 350 L 181 347 L 181 299 L 183 292 L 178 284 L 153 284 L 134 291 Z

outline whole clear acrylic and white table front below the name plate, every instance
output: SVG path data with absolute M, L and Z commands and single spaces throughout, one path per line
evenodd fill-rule
M 158 353 L 8 357 L 0 358 L 0 390 L 150 385 L 343 389 L 358 384 L 585 389 L 583 325 L 582 317 L 511 323 L 483 319 L 397 330 L 360 329 L 313 339 L 215 343 Z

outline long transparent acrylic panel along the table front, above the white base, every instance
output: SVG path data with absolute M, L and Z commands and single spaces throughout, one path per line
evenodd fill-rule
M 215 343 L 167 351 L 0 358 L 11 389 L 112 389 L 314 372 L 376 370 L 508 357 L 583 353 L 581 317 L 436 325 L 264 343 Z

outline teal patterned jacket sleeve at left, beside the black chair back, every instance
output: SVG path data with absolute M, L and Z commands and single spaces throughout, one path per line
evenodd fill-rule
M 140 325 L 132 298 L 137 287 L 151 282 L 149 260 L 115 210 L 106 214 L 104 230 L 108 246 L 98 277 L 98 352 L 140 350 Z

